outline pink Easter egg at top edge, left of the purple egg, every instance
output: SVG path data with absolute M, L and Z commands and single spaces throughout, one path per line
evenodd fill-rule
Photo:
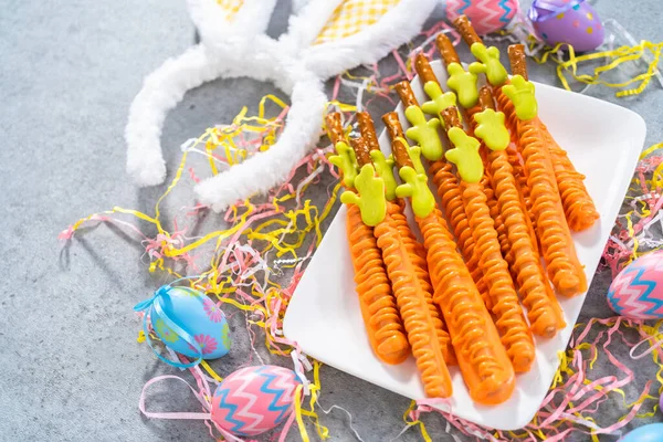
M 506 27 L 517 9 L 517 0 L 446 0 L 446 19 L 467 15 L 476 33 L 484 35 Z

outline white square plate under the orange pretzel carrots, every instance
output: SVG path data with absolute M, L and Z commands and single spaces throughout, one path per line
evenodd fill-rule
M 441 62 L 435 61 L 432 66 L 444 84 L 446 75 Z M 412 81 L 412 88 L 423 103 L 425 96 L 418 77 Z M 644 144 L 645 124 L 632 110 L 557 87 L 536 84 L 536 95 L 541 120 L 568 151 L 576 168 L 587 176 L 587 188 L 601 214 L 592 229 L 573 234 L 578 257 L 591 283 Z M 398 112 L 403 127 L 408 127 L 402 105 Z M 382 150 L 390 152 L 387 134 L 382 133 L 379 140 Z M 412 357 L 401 365 L 389 366 L 373 356 L 352 277 L 343 207 L 293 295 L 285 315 L 285 336 L 297 341 L 307 355 L 339 370 L 408 398 L 424 398 Z M 559 298 L 568 325 L 552 339 L 536 338 L 536 362 L 529 372 L 517 377 L 508 401 L 494 407 L 474 403 L 460 370 L 450 367 L 452 412 L 498 430 L 525 427 L 550 387 L 559 365 L 557 352 L 566 349 L 585 297 L 586 294 Z

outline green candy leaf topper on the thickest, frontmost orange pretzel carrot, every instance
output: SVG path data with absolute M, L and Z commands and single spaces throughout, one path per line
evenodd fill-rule
M 396 194 L 399 198 L 411 198 L 414 214 L 419 218 L 425 218 L 434 210 L 435 198 L 428 186 L 425 169 L 421 164 L 421 147 L 411 147 L 404 138 L 400 137 L 393 141 L 392 146 L 397 158 L 406 156 L 410 159 L 409 162 L 412 164 L 412 166 L 404 164 L 404 161 L 399 164 L 398 175 L 404 183 L 396 188 Z M 404 151 L 399 156 L 398 149 Z

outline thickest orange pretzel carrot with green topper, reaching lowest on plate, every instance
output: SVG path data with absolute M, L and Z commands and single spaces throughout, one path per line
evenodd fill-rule
M 514 369 L 499 335 L 449 233 L 442 213 L 425 185 L 419 158 L 421 148 L 409 148 L 404 138 L 392 147 L 399 175 L 397 189 L 412 199 L 417 223 L 424 236 L 432 271 L 434 298 L 442 307 L 470 396 L 477 402 L 504 402 L 514 389 Z M 415 162 L 414 162 L 415 161 Z

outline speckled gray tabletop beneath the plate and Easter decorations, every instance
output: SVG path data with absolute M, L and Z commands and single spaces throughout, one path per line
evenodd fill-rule
M 660 0 L 600 0 L 597 8 L 636 39 L 663 40 Z M 284 31 L 290 4 L 281 2 L 272 35 Z M 145 381 L 176 372 L 136 344 L 139 325 L 131 306 L 164 282 L 147 274 L 140 245 L 107 225 L 87 230 L 64 250 L 56 240 L 80 217 L 115 204 L 151 210 L 164 188 L 138 190 L 124 171 L 127 109 L 143 77 L 181 53 L 192 36 L 178 0 L 0 1 L 0 244 L 7 276 L 0 292 L 0 440 L 209 440 L 200 422 L 146 420 L 138 412 Z M 467 57 L 464 49 L 462 55 Z M 533 66 L 530 76 L 559 85 L 550 65 Z M 254 109 L 259 97 L 273 92 L 267 84 L 233 80 L 189 93 L 166 120 L 170 172 L 180 143 L 208 125 L 229 122 L 243 104 Z M 589 93 L 640 113 L 648 123 L 648 145 L 663 140 L 663 91 L 655 83 L 628 99 L 600 87 Z M 318 191 L 323 198 L 326 187 Z M 188 189 L 171 204 L 191 198 Z M 220 223 L 213 214 L 207 221 Z M 594 277 L 583 319 L 611 315 L 603 301 L 609 283 L 607 272 Z M 222 373 L 245 360 L 243 320 L 241 315 L 231 319 L 236 344 L 214 364 Z M 633 367 L 630 400 L 654 375 L 648 359 Z M 322 379 L 322 403 L 350 411 L 365 440 L 389 440 L 403 427 L 409 400 L 328 367 Z M 150 398 L 152 409 L 196 409 L 181 386 L 155 388 Z M 611 422 L 622 414 L 620 407 L 619 399 L 604 404 L 599 421 Z M 651 419 L 662 420 L 663 414 Z M 452 440 L 439 415 L 424 421 L 435 441 Z M 330 440 L 354 439 L 344 413 L 334 411 L 322 422 Z M 298 439 L 295 433 L 292 440 Z M 412 429 L 401 439 L 420 436 Z

